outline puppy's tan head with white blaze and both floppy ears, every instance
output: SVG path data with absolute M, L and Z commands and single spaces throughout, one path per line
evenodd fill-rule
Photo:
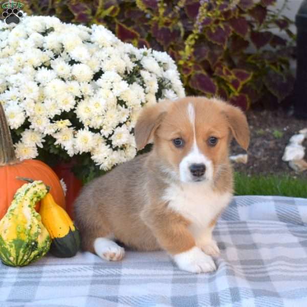
M 247 150 L 249 127 L 244 113 L 226 102 L 205 97 L 147 107 L 135 127 L 138 150 L 153 142 L 165 171 L 182 182 L 214 180 L 229 161 L 232 137 Z

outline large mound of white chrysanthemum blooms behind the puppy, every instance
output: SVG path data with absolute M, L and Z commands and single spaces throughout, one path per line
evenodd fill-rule
M 21 131 L 21 160 L 37 157 L 51 136 L 71 157 L 89 152 L 108 170 L 136 155 L 132 129 L 145 104 L 184 95 L 169 55 L 123 43 L 103 26 L 46 16 L 0 24 L 0 103 Z

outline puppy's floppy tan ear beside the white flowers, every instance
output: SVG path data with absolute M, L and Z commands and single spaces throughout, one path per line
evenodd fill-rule
M 143 149 L 152 142 L 155 131 L 167 114 L 166 104 L 169 102 L 159 102 L 155 105 L 145 107 L 137 120 L 134 133 L 137 150 Z

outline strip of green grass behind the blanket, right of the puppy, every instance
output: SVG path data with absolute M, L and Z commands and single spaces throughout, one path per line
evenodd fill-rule
M 307 198 L 307 179 L 287 175 L 247 176 L 235 173 L 235 195 L 280 195 Z

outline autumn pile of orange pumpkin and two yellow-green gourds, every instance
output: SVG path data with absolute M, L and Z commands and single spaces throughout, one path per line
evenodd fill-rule
M 43 181 L 18 176 L 33 176 Z M 22 180 L 30 183 L 23 185 Z M 3 217 L 0 221 L 0 258 L 5 265 L 26 266 L 45 255 L 50 246 L 53 246 L 53 254 L 59 257 L 77 253 L 79 233 L 62 208 L 65 207 L 64 194 L 56 174 L 40 161 L 16 159 L 1 103 L 0 181 L 4 183 L 0 186 L 0 219 Z M 35 210 L 40 200 L 43 218 Z

